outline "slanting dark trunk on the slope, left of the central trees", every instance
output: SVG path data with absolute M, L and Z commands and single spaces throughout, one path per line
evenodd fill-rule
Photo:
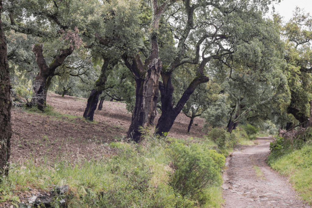
M 104 63 L 101 68 L 101 74 L 98 80 L 96 80 L 94 89 L 92 89 L 88 102 L 87 107 L 85 108 L 85 112 L 83 117 L 87 120 L 93 121 L 94 111 L 96 110 L 96 106 L 99 102 L 99 96 L 102 91 L 105 89 L 105 83 L 107 80 L 108 73 L 110 70 L 114 68 L 114 66 L 118 63 L 116 59 L 112 58 L 104 58 Z

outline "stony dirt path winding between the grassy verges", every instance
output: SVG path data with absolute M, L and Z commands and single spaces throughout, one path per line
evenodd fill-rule
M 223 175 L 224 208 L 305 207 L 310 208 L 292 189 L 287 179 L 275 173 L 265 162 L 272 138 L 258 137 L 259 145 L 226 158 L 228 169 Z M 262 176 L 255 172 L 259 167 Z

